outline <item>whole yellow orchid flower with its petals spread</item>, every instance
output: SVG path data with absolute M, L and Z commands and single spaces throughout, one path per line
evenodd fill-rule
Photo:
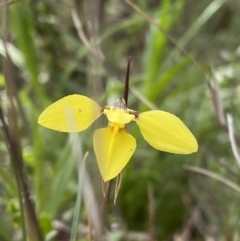
M 102 114 L 109 124 L 95 131 L 93 147 L 105 182 L 123 170 L 135 151 L 136 140 L 125 128 L 131 121 L 137 123 L 144 139 L 157 150 L 190 154 L 198 149 L 195 137 L 178 117 L 160 110 L 139 113 L 128 109 L 124 98 L 113 106 L 101 107 L 86 96 L 69 95 L 47 107 L 38 123 L 56 131 L 80 132 Z

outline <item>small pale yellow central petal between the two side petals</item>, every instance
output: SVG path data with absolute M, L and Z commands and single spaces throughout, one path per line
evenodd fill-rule
M 105 109 L 103 112 L 110 122 L 118 123 L 118 124 L 127 124 L 132 121 L 135 116 L 129 114 L 128 111 L 122 109 Z

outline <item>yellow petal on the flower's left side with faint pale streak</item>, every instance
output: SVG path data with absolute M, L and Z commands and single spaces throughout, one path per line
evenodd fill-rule
M 38 124 L 62 132 L 87 129 L 101 115 L 100 106 L 83 95 L 66 96 L 48 106 L 39 116 Z

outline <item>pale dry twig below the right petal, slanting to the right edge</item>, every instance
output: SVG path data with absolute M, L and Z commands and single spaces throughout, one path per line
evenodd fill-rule
M 197 166 L 191 166 L 191 165 L 184 165 L 183 166 L 184 169 L 188 170 L 188 171 L 192 171 L 192 172 L 196 172 L 202 175 L 205 175 L 207 177 L 216 179 L 222 183 L 224 183 L 225 185 L 227 185 L 228 187 L 232 188 L 233 190 L 237 191 L 238 193 L 240 193 L 240 186 L 238 186 L 237 184 L 235 184 L 234 182 L 230 181 L 229 179 L 215 173 L 209 170 L 206 170 L 202 167 L 197 167 Z

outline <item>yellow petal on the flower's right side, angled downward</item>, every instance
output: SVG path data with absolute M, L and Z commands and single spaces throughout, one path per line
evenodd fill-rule
M 141 113 L 136 122 L 144 139 L 154 148 L 176 154 L 196 152 L 198 144 L 184 123 L 164 111 Z

